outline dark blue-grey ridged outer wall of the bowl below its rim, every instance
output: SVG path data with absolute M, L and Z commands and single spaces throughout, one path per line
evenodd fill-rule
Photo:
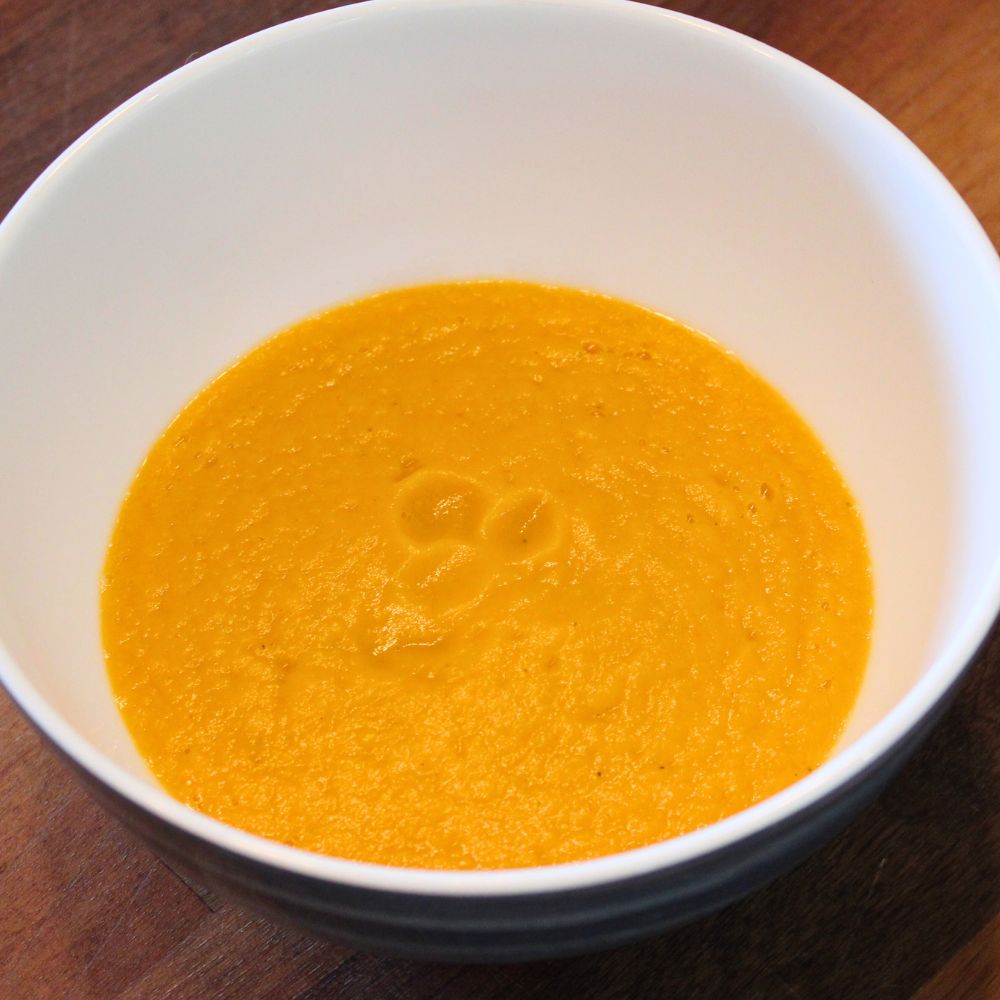
M 222 897 L 377 954 L 430 961 L 520 962 L 579 955 L 649 938 L 719 910 L 790 870 L 882 790 L 933 728 L 957 687 L 853 782 L 754 837 L 639 877 L 509 896 L 384 892 L 263 864 L 154 816 L 54 744 L 52 748 L 90 794 L 165 863 Z

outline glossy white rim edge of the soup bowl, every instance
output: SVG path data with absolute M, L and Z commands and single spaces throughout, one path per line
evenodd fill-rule
M 971 210 L 937 168 L 894 125 L 835 81 L 799 60 L 731 29 L 690 15 L 624 0 L 367 0 L 266 28 L 230 42 L 187 63 L 129 98 L 81 135 L 58 156 L 21 195 L 0 222 L 0 246 L 16 239 L 17 227 L 45 198 L 51 178 L 70 164 L 103 131 L 119 119 L 141 114 L 161 94 L 195 83 L 200 77 L 237 63 L 263 46 L 292 42 L 317 28 L 360 18 L 378 18 L 395 10 L 449 11 L 500 8 L 566 8 L 599 11 L 622 21 L 634 21 L 646 31 L 701 32 L 727 57 L 766 63 L 768 71 L 790 85 L 808 90 L 818 99 L 839 104 L 859 120 L 866 120 L 880 141 L 895 148 L 907 169 L 920 181 L 953 223 L 956 244 L 970 259 L 978 258 L 991 280 L 991 298 L 1000 322 L 1000 260 Z M 0 683 L 39 730 L 99 783 L 152 814 L 168 826 L 247 860 L 331 884 L 392 893 L 437 897 L 508 897 L 594 888 L 653 871 L 676 868 L 730 848 L 827 799 L 859 779 L 884 757 L 944 699 L 970 664 L 1000 611 L 1000 552 L 995 553 L 984 585 L 969 601 L 964 616 L 925 673 L 904 697 L 852 744 L 836 752 L 811 774 L 778 794 L 683 836 L 633 850 L 586 861 L 497 870 L 439 870 L 400 868 L 349 861 L 267 840 L 229 826 L 183 805 L 160 787 L 143 781 L 87 742 L 43 698 L 0 640 Z

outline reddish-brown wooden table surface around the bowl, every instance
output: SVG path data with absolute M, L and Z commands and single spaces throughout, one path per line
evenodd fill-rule
M 0 0 L 0 215 L 139 88 L 323 6 Z M 860 94 L 1000 242 L 1000 0 L 677 6 Z M 354 953 L 193 891 L 76 787 L 0 695 L 0 998 L 997 998 L 998 680 L 995 630 L 944 723 L 881 800 L 751 899 L 646 944 L 501 967 Z

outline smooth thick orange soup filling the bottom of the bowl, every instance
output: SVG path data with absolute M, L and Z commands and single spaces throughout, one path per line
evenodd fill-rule
M 872 585 L 831 460 L 653 312 L 484 281 L 363 299 L 209 384 L 105 566 L 121 711 L 174 796 L 344 858 L 590 858 L 820 764 Z

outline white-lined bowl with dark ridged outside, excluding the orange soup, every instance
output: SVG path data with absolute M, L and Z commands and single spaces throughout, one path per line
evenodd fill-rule
M 675 840 L 507 872 L 321 857 L 151 778 L 105 676 L 98 577 L 146 449 L 209 377 L 346 297 L 444 278 L 595 288 L 778 386 L 858 497 L 871 665 L 833 758 Z M 1000 268 L 874 111 L 766 46 L 617 0 L 374 0 L 185 66 L 0 226 L 0 679 L 158 850 L 369 947 L 607 945 L 720 905 L 844 822 L 1000 603 Z

